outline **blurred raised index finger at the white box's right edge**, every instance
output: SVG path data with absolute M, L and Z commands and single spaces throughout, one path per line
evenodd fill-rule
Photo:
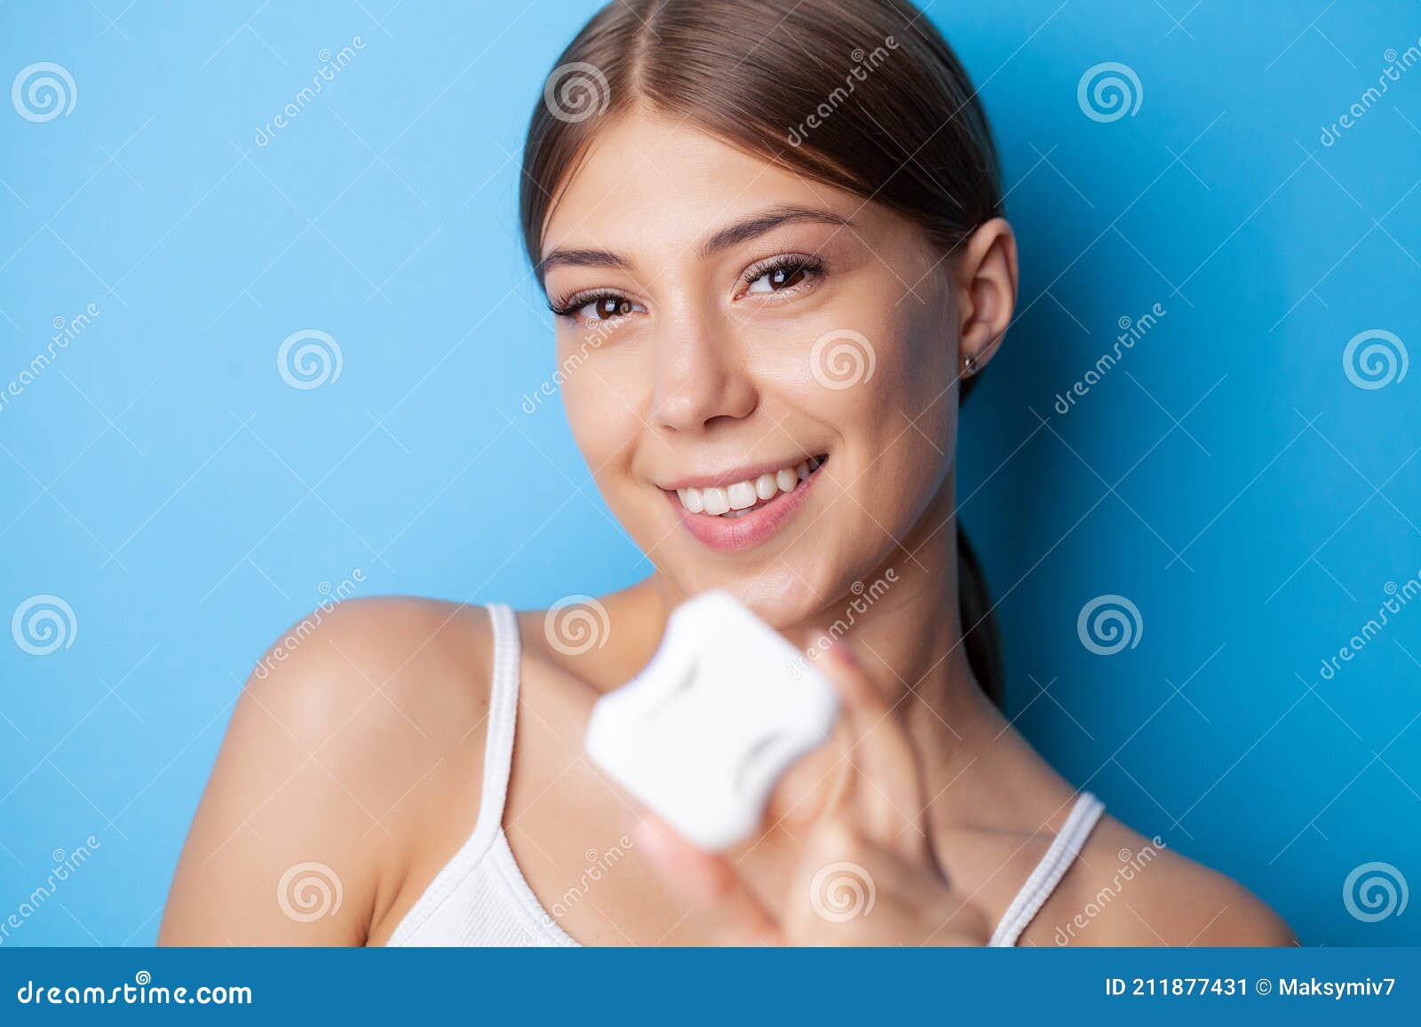
M 912 739 L 848 639 L 830 648 L 824 669 L 843 702 L 848 760 L 857 770 L 851 791 L 865 835 L 905 858 L 926 857 L 922 783 Z

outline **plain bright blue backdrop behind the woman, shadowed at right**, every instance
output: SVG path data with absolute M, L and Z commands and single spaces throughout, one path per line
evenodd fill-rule
M 54 318 L 101 311 L 0 411 L 0 614 L 55 594 L 77 619 L 47 656 L 0 635 L 0 918 L 54 849 L 101 841 L 11 943 L 155 939 L 242 682 L 323 582 L 540 607 L 649 571 L 557 405 L 520 409 L 554 362 L 517 155 L 593 9 L 0 9 L 0 85 L 55 61 L 78 89 L 45 124 L 0 102 L 0 386 Z M 993 118 L 1022 244 L 1020 315 L 961 446 L 1019 727 L 1304 943 L 1421 940 L 1421 899 L 1364 923 L 1341 893 L 1371 861 L 1421 886 L 1421 604 L 1319 675 L 1421 570 L 1421 371 L 1361 389 L 1341 361 L 1364 330 L 1421 347 L 1421 68 L 1320 142 L 1421 9 L 932 16 Z M 1101 61 L 1138 74 L 1135 115 L 1083 114 Z M 344 358 L 310 391 L 276 366 L 304 328 Z M 1077 636 L 1101 594 L 1141 614 L 1114 656 Z

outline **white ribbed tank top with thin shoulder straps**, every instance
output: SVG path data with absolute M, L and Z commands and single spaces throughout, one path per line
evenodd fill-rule
M 503 832 L 519 707 L 519 626 L 509 607 L 490 605 L 489 615 L 493 621 L 493 678 L 479 817 L 469 839 L 395 928 L 389 938 L 392 946 L 577 945 L 529 888 Z M 1007 906 L 988 945 L 1016 945 L 1066 875 L 1103 811 L 1100 800 L 1088 791 L 1080 793 L 1060 834 Z

